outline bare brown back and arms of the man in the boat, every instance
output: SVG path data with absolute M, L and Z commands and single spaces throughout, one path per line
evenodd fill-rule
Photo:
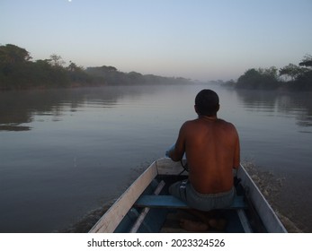
M 172 159 L 186 152 L 189 179 L 201 194 L 229 191 L 233 168 L 239 166 L 239 141 L 234 125 L 217 117 L 199 117 L 185 122 L 175 143 Z

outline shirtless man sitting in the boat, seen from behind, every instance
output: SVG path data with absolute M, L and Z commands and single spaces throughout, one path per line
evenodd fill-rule
M 214 91 L 200 91 L 194 108 L 199 117 L 182 125 L 174 149 L 167 153 L 179 161 L 185 152 L 189 179 L 174 183 L 169 192 L 200 211 L 226 208 L 234 199 L 233 169 L 240 162 L 236 127 L 217 117 L 219 102 Z M 188 227 L 190 222 L 183 223 Z M 198 229 L 208 229 L 208 225 L 209 221 L 201 222 Z

